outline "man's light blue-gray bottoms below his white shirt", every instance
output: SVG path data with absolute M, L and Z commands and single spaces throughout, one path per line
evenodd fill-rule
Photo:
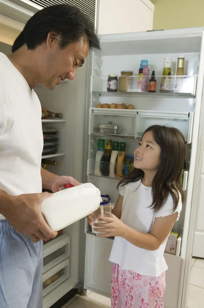
M 0 307 L 42 308 L 42 241 L 0 220 Z

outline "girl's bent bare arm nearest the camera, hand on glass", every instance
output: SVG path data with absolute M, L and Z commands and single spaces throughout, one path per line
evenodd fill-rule
M 113 237 L 120 236 L 126 239 L 134 246 L 147 249 L 150 251 L 156 250 L 168 237 L 171 229 L 177 219 L 178 213 L 171 214 L 165 217 L 157 217 L 154 220 L 150 233 L 138 232 L 125 225 L 116 216 L 111 218 L 99 218 L 107 222 L 106 228 L 103 229 L 103 234 L 98 234 L 98 237 Z M 96 227 L 104 227 L 104 224 L 94 224 Z M 98 229 L 96 229 L 98 230 Z M 99 229 L 100 231 L 101 229 Z

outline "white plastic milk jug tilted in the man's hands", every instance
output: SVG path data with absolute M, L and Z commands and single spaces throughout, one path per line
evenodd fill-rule
M 64 189 L 41 203 L 41 212 L 53 231 L 59 231 L 93 213 L 99 206 L 101 193 L 92 183 Z

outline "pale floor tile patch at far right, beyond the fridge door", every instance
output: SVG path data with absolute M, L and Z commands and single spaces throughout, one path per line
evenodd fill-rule
M 192 259 L 188 294 L 188 308 L 203 307 L 204 303 L 204 259 Z

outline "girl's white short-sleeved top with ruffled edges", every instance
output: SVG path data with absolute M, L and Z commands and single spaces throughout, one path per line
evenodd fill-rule
M 182 210 L 182 200 L 177 209 L 173 210 L 171 195 L 156 214 L 149 206 L 152 203 L 151 187 L 146 187 L 140 181 L 129 183 L 120 187 L 120 195 L 123 196 L 121 221 L 129 227 L 142 233 L 149 233 L 155 217 L 165 217 Z M 168 237 L 155 251 L 134 246 L 122 237 L 115 237 L 109 261 L 119 264 L 123 269 L 147 276 L 158 277 L 168 267 L 164 259 L 164 250 Z

